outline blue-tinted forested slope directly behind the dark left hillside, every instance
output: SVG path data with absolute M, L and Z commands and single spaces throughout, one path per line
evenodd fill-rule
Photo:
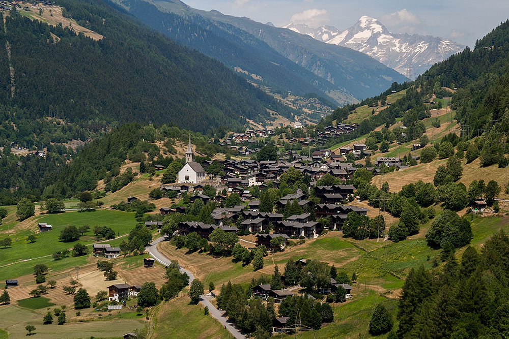
M 212 22 L 201 16 L 186 19 L 174 13 L 159 11 L 143 0 L 117 1 L 127 6 L 129 13 L 158 32 L 184 45 L 220 60 L 225 65 L 239 67 L 258 77 L 245 77 L 252 82 L 272 87 L 273 91 L 292 91 L 297 95 L 326 91 L 335 88 L 320 78 L 282 56 L 265 42 L 233 25 Z M 239 72 L 239 75 L 243 73 Z M 260 79 L 261 78 L 261 79 Z M 329 97 L 330 100 L 330 97 Z

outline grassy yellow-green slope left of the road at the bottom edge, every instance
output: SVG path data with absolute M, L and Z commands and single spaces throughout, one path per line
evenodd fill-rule
M 191 305 L 186 293 L 187 289 L 158 307 L 153 338 L 233 338 L 219 322 L 205 315 L 201 303 Z

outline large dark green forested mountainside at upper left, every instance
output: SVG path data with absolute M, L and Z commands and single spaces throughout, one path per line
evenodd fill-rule
M 218 61 L 183 47 L 98 0 L 62 0 L 64 14 L 104 36 L 5 13 L 14 69 L 12 104 L 27 116 L 69 122 L 167 122 L 206 132 L 245 118 L 263 121 L 278 104 Z M 0 97 L 10 94 L 9 60 L 0 52 Z M 190 118 L 192 117 L 192 118 Z

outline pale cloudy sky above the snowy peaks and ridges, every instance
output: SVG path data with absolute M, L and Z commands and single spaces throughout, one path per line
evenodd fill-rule
M 187 5 L 246 16 L 275 26 L 327 24 L 344 30 L 363 16 L 379 19 L 391 32 L 425 34 L 473 47 L 509 17 L 508 0 L 184 0 Z

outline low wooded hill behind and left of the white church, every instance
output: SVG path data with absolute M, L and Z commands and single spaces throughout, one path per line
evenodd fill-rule
M 9 147 L 4 147 L 0 153 L 0 205 L 15 204 L 25 196 L 32 200 L 71 197 L 95 190 L 99 180 L 120 182 L 124 180 L 120 167 L 126 161 L 147 162 L 149 168 L 152 168 L 150 164 L 156 163 L 166 167 L 174 160 L 180 161 L 174 145 L 176 141 L 187 141 L 189 134 L 196 150 L 206 157 L 226 151 L 216 144 L 209 144 L 207 136 L 182 130 L 174 124 L 156 128 L 137 123 L 104 133 L 77 147 L 76 151 L 51 145 L 46 157 L 17 156 Z M 125 179 L 119 183 L 120 187 L 132 177 Z

